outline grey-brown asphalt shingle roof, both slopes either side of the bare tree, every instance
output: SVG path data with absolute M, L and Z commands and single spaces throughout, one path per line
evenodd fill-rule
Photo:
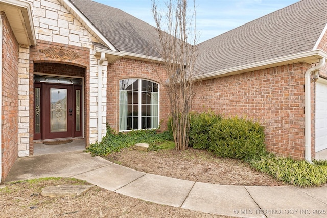
M 160 57 L 155 27 L 120 9 L 71 1 L 119 51 Z M 326 0 L 302 0 L 200 43 L 196 65 L 208 74 L 310 51 L 326 23 Z

